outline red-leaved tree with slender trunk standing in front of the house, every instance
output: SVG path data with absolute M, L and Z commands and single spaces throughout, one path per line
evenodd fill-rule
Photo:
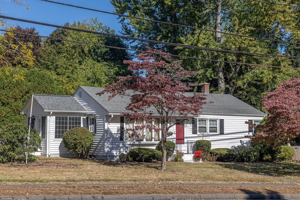
M 171 127 L 197 116 L 202 112 L 202 105 L 206 104 L 205 94 L 192 96 L 184 95 L 193 85 L 189 82 L 195 71 L 184 70 L 180 61 L 174 60 L 161 50 L 146 47 L 147 52 L 138 54 L 139 61 L 124 61 L 129 64 L 131 75 L 120 76 L 119 81 L 107 86 L 101 95 L 109 93 L 109 100 L 116 95 L 129 95 L 130 103 L 126 107 L 127 113 L 121 113 L 127 121 L 135 123 L 134 130 L 149 129 L 161 133 L 162 148 L 161 169 L 167 165 L 167 137 Z M 159 120 L 160 126 L 152 125 L 152 121 Z M 132 137 L 137 137 L 132 131 Z

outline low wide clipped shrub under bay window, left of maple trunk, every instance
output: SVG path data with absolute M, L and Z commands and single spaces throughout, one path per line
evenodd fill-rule
M 161 151 L 151 149 L 151 148 L 133 148 L 129 150 L 128 157 L 132 161 L 143 162 L 152 162 L 152 160 L 161 160 L 163 153 Z

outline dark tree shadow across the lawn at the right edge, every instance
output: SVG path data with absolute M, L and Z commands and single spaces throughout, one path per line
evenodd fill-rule
M 243 172 L 250 172 L 270 176 L 300 177 L 300 164 L 288 162 L 261 162 L 261 163 L 218 163 L 220 166 Z

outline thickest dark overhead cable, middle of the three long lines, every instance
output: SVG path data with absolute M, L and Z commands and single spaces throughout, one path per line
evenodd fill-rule
M 233 53 L 233 54 L 241 54 L 241 55 L 260 55 L 260 56 L 273 56 L 273 57 L 283 57 L 283 58 L 300 58 L 299 56 L 242 52 L 242 51 L 233 51 L 233 50 L 226 50 L 226 49 L 213 49 L 213 48 L 192 46 L 192 45 L 184 45 L 184 44 L 178 44 L 178 43 L 161 42 L 161 41 L 157 41 L 157 40 L 147 40 L 147 39 L 141 39 L 141 38 L 136 38 L 136 37 L 128 37 L 128 36 L 123 36 L 123 35 L 109 34 L 109 33 L 97 32 L 97 31 L 88 31 L 88 30 L 79 29 L 79 28 L 71 28 L 71 27 L 68 27 L 68 26 L 60 26 L 60 25 L 43 23 L 43 22 L 36 22 L 36 21 L 32 21 L 32 20 L 20 19 L 20 18 L 4 16 L 4 15 L 0 15 L 0 18 L 12 19 L 12 20 L 16 20 L 16 21 L 28 22 L 28 23 L 33 23 L 33 24 L 45 25 L 45 26 L 51 26 L 51 27 L 55 27 L 55 28 L 63 28 L 63 29 L 68 29 L 68 30 L 72 30 L 72 31 L 80 31 L 80 32 L 85 32 L 85 33 L 104 35 L 104 36 L 109 36 L 109 37 L 119 37 L 119 38 L 123 38 L 123 39 L 126 39 L 126 40 L 138 40 L 138 41 L 143 41 L 143 42 L 165 44 L 165 45 L 171 45 L 171 46 L 179 46 L 179 47 L 191 48 L 191 49 L 201 49 L 201 50 L 207 50 L 207 51 Z

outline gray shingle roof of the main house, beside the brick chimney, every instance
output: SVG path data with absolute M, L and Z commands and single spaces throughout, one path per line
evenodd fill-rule
M 101 106 L 110 113 L 128 112 L 126 106 L 130 102 L 129 96 L 116 96 L 108 101 L 110 94 L 96 95 L 104 88 L 80 86 L 92 98 L 94 98 Z M 192 96 L 193 92 L 186 92 L 186 96 Z M 220 114 L 241 114 L 241 115 L 266 115 L 265 113 L 257 110 L 256 108 L 244 103 L 243 101 L 233 97 L 230 94 L 207 94 L 207 102 L 213 101 L 203 105 L 203 114 L 205 113 L 220 113 Z

